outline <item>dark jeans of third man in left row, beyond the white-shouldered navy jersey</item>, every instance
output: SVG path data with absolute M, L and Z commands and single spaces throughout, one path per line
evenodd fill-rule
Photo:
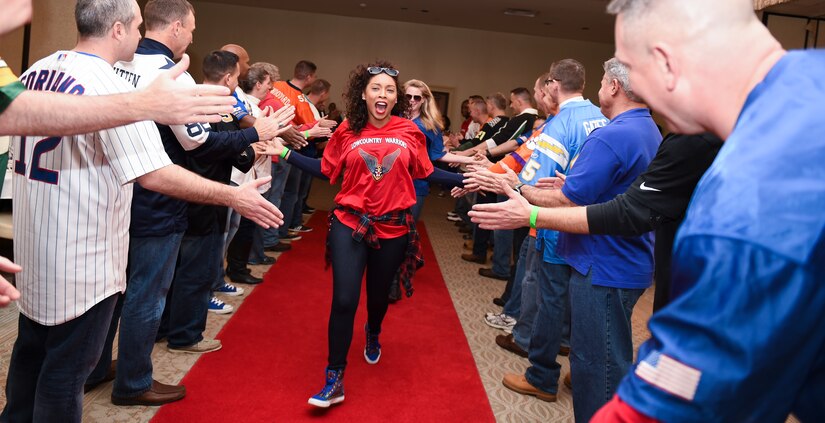
M 160 335 L 171 347 L 186 347 L 203 340 L 212 283 L 220 269 L 223 234 L 184 235 L 175 278 L 169 290 Z

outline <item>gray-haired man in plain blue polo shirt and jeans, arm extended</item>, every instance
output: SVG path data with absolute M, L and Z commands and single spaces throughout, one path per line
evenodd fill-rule
M 610 123 L 591 132 L 584 141 L 578 156 L 571 160 L 562 189 L 520 187 L 531 204 L 573 207 L 610 200 L 625 192 L 656 154 L 662 136 L 650 110 L 633 93 L 627 69 L 612 58 L 605 62 L 604 70 L 599 103 Z M 515 186 L 518 180 L 511 182 Z M 531 226 L 535 227 L 535 221 Z M 636 301 L 653 280 L 652 241 L 649 234 L 559 234 L 558 253 L 572 268 L 570 366 L 576 421 L 590 420 L 610 400 L 633 360 L 630 317 Z M 557 377 L 558 370 L 551 375 Z M 543 380 L 546 376 L 542 373 L 530 380 L 555 386 L 556 380 Z M 505 384 L 518 388 L 514 389 L 517 392 L 521 389 L 530 395 L 545 394 L 524 376 L 509 381 L 505 377 Z

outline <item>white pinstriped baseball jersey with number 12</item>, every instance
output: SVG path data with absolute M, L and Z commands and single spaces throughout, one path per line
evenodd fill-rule
M 77 95 L 133 91 L 103 59 L 59 51 L 21 77 Z M 80 110 L 78 113 L 82 113 Z M 151 122 L 66 137 L 14 137 L 18 305 L 43 325 L 72 320 L 126 287 L 130 182 L 171 164 Z

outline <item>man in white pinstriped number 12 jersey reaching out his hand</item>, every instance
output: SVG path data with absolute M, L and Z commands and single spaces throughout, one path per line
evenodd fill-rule
M 137 2 L 79 0 L 75 11 L 75 48 L 38 61 L 21 81 L 47 90 L 37 81 L 59 73 L 58 91 L 134 91 L 112 66 L 134 56 L 142 23 Z M 265 179 L 230 188 L 172 165 L 151 122 L 77 136 L 15 137 L 13 146 L 21 314 L 0 420 L 79 422 L 83 384 L 126 287 L 132 183 L 235 207 L 264 225 L 280 225 L 281 215 L 255 190 Z

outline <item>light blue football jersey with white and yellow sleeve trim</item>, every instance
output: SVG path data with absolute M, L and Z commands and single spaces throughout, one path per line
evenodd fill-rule
M 590 132 L 607 125 L 607 122 L 607 118 L 590 100 L 579 97 L 565 102 L 559 113 L 545 124 L 541 135 L 527 141 L 533 154 L 519 173 L 521 182 L 535 185 L 539 178 L 556 176 L 557 170 L 566 173 L 570 168 L 570 159 L 578 153 L 579 146 Z M 543 249 L 542 259 L 547 263 L 565 264 L 556 253 L 558 236 L 556 231 L 537 231 L 536 249 Z

